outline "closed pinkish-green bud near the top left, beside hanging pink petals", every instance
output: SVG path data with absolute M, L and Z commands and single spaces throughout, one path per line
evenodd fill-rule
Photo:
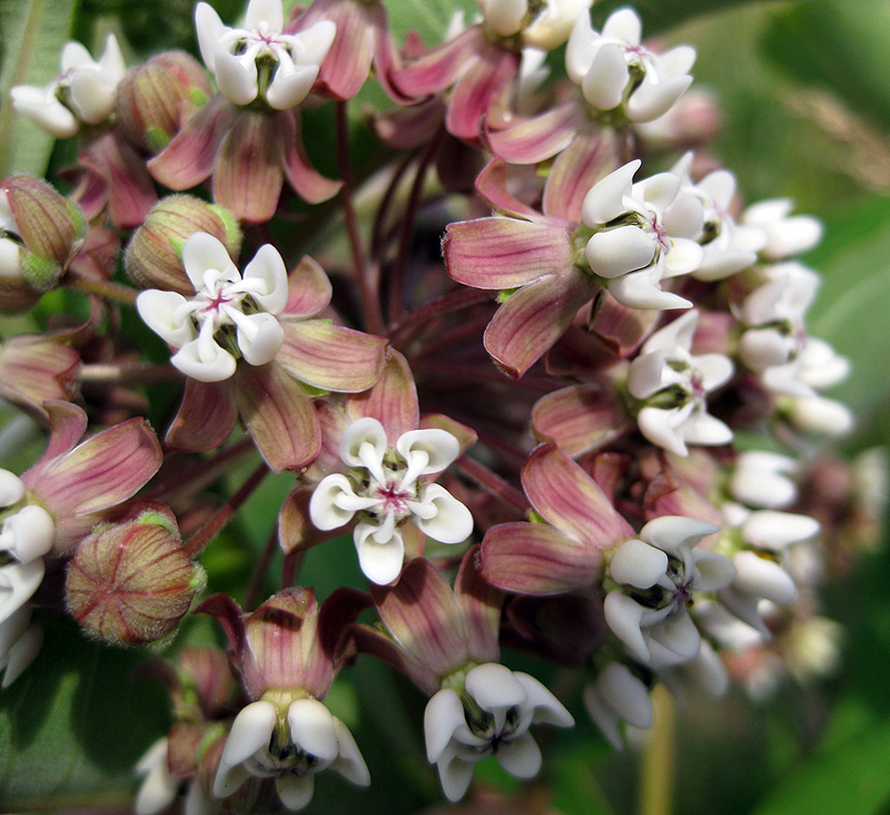
M 127 138 L 160 153 L 209 98 L 200 63 L 184 51 L 167 51 L 131 68 L 117 90 L 118 124 Z

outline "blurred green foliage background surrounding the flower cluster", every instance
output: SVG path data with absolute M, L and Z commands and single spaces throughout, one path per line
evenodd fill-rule
M 385 4 L 399 36 L 418 28 L 428 42 L 456 6 L 448 0 Z M 594 22 L 621 4 L 599 3 Z M 240 3 L 215 6 L 231 19 Z M 859 420 L 841 446 L 852 456 L 887 445 L 890 2 L 646 0 L 635 8 L 647 36 L 696 47 L 693 87 L 712 92 L 724 117 L 713 153 L 735 173 L 743 198 L 791 197 L 797 212 L 824 222 L 824 242 L 805 258 L 824 275 L 809 324 L 853 364 L 850 379 L 829 394 Z M 10 86 L 41 85 L 55 76 L 70 36 L 95 45 L 102 32 L 119 31 L 132 60 L 165 47 L 195 51 L 191 13 L 186 0 L 0 0 L 2 173 L 42 174 L 51 158 L 53 165 L 65 158 L 12 115 L 6 101 Z M 267 480 L 208 550 L 212 588 L 235 590 L 244 582 L 289 487 L 285 478 Z M 344 579 L 358 582 L 350 543 L 332 546 L 324 557 L 312 552 L 303 572 L 322 597 Z M 659 726 L 661 740 L 647 752 L 636 743 L 622 753 L 609 748 L 587 721 L 575 688 L 570 705 L 578 726 L 568 735 L 542 734 L 548 760 L 532 794 L 503 809 L 478 804 L 464 811 L 890 813 L 889 578 L 890 552 L 881 546 L 827 587 L 825 613 L 844 629 L 843 667 L 834 676 L 807 686 L 787 681 L 760 701 L 739 689 L 719 703 L 690 701 L 675 711 L 672 726 Z M 186 634 L 215 636 L 205 621 Z M 0 696 L 0 812 L 128 812 L 135 789 L 130 768 L 164 733 L 168 716 L 159 688 L 130 678 L 142 658 L 87 642 L 63 622 L 48 626 L 37 662 Z M 422 755 L 423 703 L 406 681 L 369 660 L 348 670 L 335 686 L 332 706 L 353 727 L 374 784 L 359 792 L 326 775 L 306 812 L 398 815 L 435 804 L 437 783 Z M 495 765 L 481 769 L 492 789 L 520 792 Z M 649 782 L 641 786 L 641 778 Z M 654 795 L 650 802 L 644 789 Z

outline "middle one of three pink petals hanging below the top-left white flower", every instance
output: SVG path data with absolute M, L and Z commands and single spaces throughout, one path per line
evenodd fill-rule
M 284 184 L 277 135 L 277 117 L 239 110 L 219 145 L 214 200 L 239 220 L 265 224 L 275 215 Z

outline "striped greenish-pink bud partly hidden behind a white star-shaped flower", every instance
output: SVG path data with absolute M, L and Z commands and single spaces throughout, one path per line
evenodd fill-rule
M 151 208 L 127 246 L 127 274 L 146 288 L 195 294 L 182 265 L 182 246 L 186 238 L 199 232 L 221 240 L 231 257 L 238 256 L 241 230 L 228 209 L 190 195 L 164 198 Z

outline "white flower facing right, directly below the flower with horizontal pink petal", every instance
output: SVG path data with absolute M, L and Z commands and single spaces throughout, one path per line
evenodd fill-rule
M 723 354 L 690 353 L 698 312 L 688 312 L 656 331 L 631 363 L 627 387 L 644 404 L 636 415 L 640 432 L 653 444 L 688 455 L 686 444 L 726 444 L 730 428 L 715 419 L 705 396 L 732 376 Z

